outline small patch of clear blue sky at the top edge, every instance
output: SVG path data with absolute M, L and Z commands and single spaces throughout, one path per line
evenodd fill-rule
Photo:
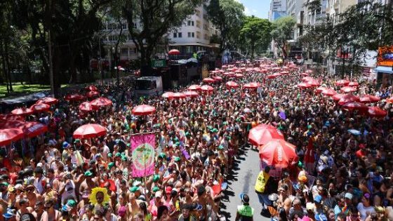
M 236 0 L 244 5 L 246 15 L 255 15 L 258 18 L 268 18 L 271 0 Z

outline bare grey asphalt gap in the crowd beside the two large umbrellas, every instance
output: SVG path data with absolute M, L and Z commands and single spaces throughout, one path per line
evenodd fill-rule
M 240 194 L 246 193 L 250 196 L 250 206 L 254 208 L 254 220 L 265 221 L 269 218 L 262 217 L 260 211 L 262 206 L 255 193 L 255 179 L 260 171 L 260 159 L 258 152 L 250 147 L 245 147 L 235 160 L 235 167 L 228 175 L 228 189 L 225 191 L 225 198 L 222 199 L 221 213 L 227 220 L 232 221 L 236 217 L 237 206 L 241 205 Z

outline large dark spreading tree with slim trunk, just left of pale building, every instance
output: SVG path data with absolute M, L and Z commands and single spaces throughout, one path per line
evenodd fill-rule
M 194 14 L 203 0 L 124 0 L 124 18 L 128 31 L 140 52 L 141 74 L 150 73 L 150 61 L 154 49 L 169 31 L 180 27 L 184 20 Z M 135 27 L 134 24 L 140 25 Z

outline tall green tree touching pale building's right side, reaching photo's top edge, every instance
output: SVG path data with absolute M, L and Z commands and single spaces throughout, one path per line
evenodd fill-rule
M 220 52 L 239 45 L 239 32 L 244 20 L 244 6 L 235 0 L 211 0 L 209 20 L 220 30 Z

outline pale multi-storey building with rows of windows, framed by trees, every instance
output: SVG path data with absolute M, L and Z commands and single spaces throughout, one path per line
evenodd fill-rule
M 220 46 L 211 43 L 211 36 L 219 35 L 218 29 L 208 20 L 206 8 L 199 6 L 194 15 L 185 20 L 183 25 L 168 33 L 170 49 L 178 49 L 185 58 L 194 52 L 206 51 L 210 53 Z

